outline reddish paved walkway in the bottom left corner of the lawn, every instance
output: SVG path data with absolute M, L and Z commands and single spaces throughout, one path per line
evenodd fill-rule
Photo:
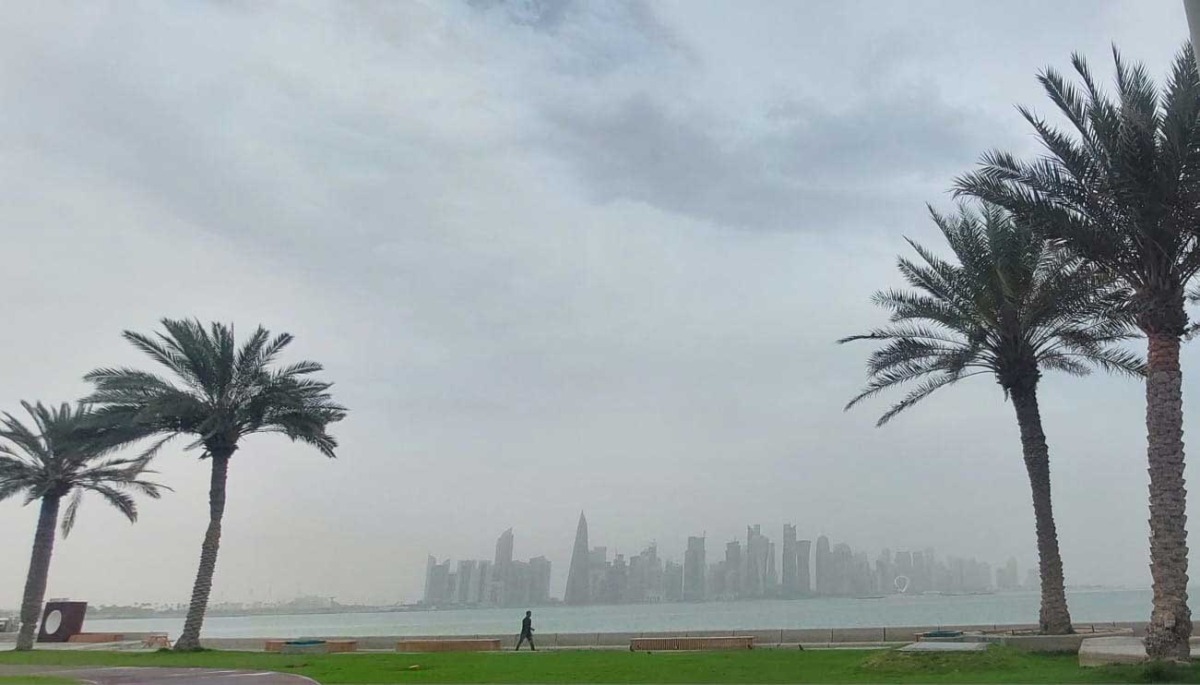
M 319 685 L 304 675 L 270 671 L 218 668 L 62 668 L 61 666 L 0 666 L 0 675 L 59 675 L 86 685 Z

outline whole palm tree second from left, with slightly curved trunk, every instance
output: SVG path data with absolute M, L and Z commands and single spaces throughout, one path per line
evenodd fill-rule
M 330 383 L 310 378 L 319 363 L 301 361 L 274 367 L 292 342 L 289 334 L 271 337 L 262 326 L 239 348 L 233 326 L 198 320 L 163 319 L 166 332 L 146 336 L 125 331 L 125 340 L 170 372 L 169 378 L 130 368 L 98 368 L 85 378 L 96 386 L 85 399 L 106 421 L 134 428 L 139 435 L 161 435 L 160 447 L 178 435 L 188 435 L 188 447 L 202 449 L 212 467 L 209 488 L 209 527 L 200 547 L 200 563 L 184 632 L 175 649 L 200 647 L 200 627 L 212 588 L 221 519 L 224 516 L 226 476 L 239 441 L 253 433 L 282 433 L 313 445 L 334 457 L 337 440 L 326 429 L 341 421 L 346 409 L 334 403 Z

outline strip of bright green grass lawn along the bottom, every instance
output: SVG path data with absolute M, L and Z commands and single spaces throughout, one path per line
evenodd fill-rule
M 283 655 L 0 653 L 2 665 L 170 666 L 299 673 L 337 683 L 1200 683 L 1200 667 L 1080 668 L 1076 656 L 859 650 Z

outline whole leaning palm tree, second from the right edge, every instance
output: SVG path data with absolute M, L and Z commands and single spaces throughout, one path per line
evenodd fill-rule
M 894 386 L 912 390 L 880 419 L 887 423 L 934 391 L 972 375 L 990 375 L 1016 410 L 1021 452 L 1033 491 L 1042 632 L 1072 632 L 1062 558 L 1050 503 L 1050 453 L 1038 409 L 1042 369 L 1084 375 L 1091 366 L 1130 374 L 1141 361 L 1114 343 L 1127 325 L 1110 317 L 1104 284 L 1028 226 L 1000 208 L 931 211 L 956 262 L 908 241 L 920 263 L 901 258 L 914 290 L 886 290 L 875 302 L 892 312 L 888 326 L 839 342 L 883 341 L 869 361 L 870 381 L 846 408 Z

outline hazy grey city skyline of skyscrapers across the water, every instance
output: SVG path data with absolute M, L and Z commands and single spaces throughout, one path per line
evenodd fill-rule
M 464 559 L 451 569 L 451 559 L 426 561 L 422 605 L 439 606 L 539 606 L 618 605 L 644 602 L 702 602 L 751 599 L 854 597 L 888 594 L 971 594 L 1030 589 L 1034 570 L 1020 581 L 1020 565 L 1009 557 L 1002 565 L 974 558 L 938 558 L 932 547 L 883 548 L 872 559 L 846 542 L 826 535 L 799 539 L 798 527 L 782 524 L 782 554 L 762 524 L 749 524 L 742 540 L 725 543 L 724 558 L 709 561 L 707 535 L 688 536 L 682 563 L 660 558 L 650 542 L 635 555 L 592 546 L 587 515 L 580 512 L 571 545 L 571 561 L 562 599 L 551 596 L 551 564 L 545 557 L 530 559 L 536 571 L 524 588 L 514 593 L 514 531 L 504 530 L 496 542 L 493 561 Z M 810 551 L 814 553 L 810 555 Z M 508 569 L 508 571 L 505 571 Z

